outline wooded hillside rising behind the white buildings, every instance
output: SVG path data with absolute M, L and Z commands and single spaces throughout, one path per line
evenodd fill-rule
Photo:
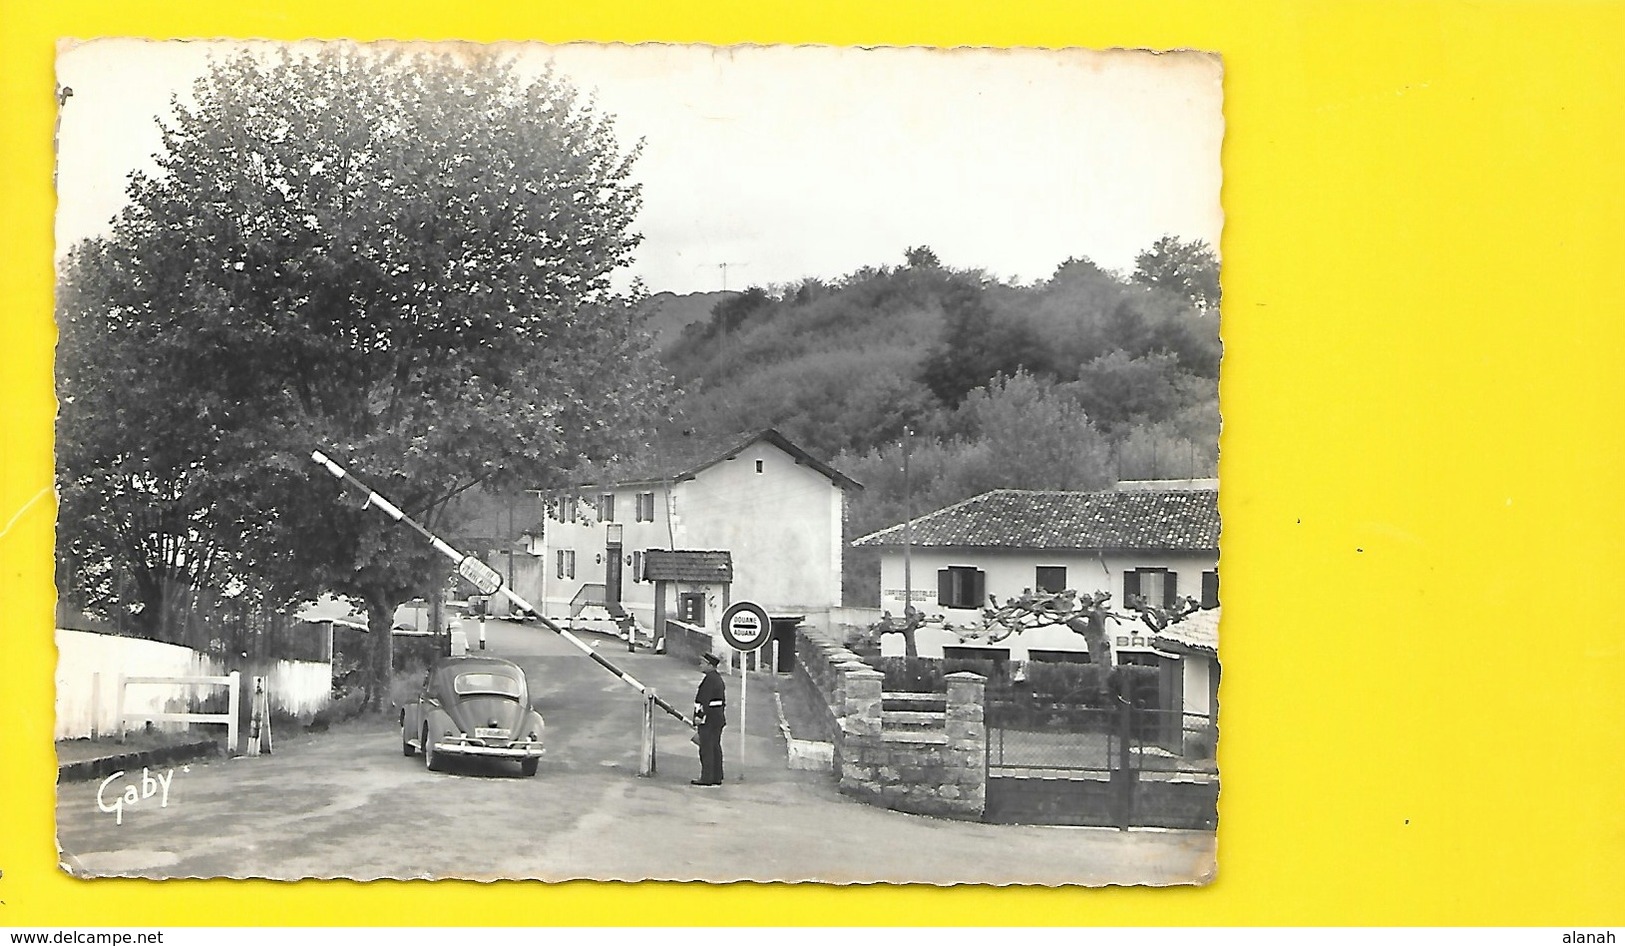
M 674 423 L 777 427 L 827 457 L 866 486 L 848 540 L 994 488 L 1217 470 L 1219 263 L 1201 242 L 1164 237 L 1131 275 L 1066 260 L 1035 284 L 912 247 L 897 267 L 726 294 L 673 335 L 687 299 L 648 304 Z M 848 549 L 852 605 L 878 600 L 873 556 Z

